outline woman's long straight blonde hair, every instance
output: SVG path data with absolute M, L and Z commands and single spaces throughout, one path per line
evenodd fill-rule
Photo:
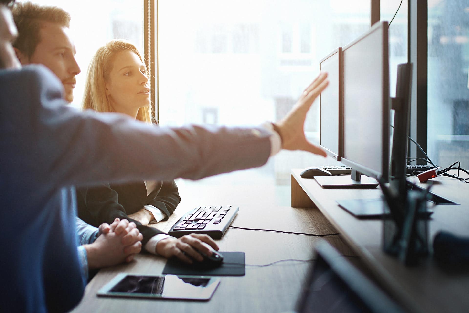
M 97 112 L 115 112 L 106 95 L 106 81 L 113 68 L 113 55 L 121 51 L 131 51 L 138 55 L 143 62 L 136 46 L 126 40 L 115 39 L 109 41 L 96 51 L 91 59 L 86 74 L 85 91 L 83 94 L 83 110 L 92 109 Z M 142 122 L 151 122 L 151 106 L 138 109 L 136 119 Z

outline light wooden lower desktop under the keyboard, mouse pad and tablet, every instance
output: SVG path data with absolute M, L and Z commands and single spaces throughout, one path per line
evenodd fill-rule
M 182 194 L 183 202 L 170 216 L 169 221 L 157 224 L 159 229 L 167 231 L 184 213 L 184 207 L 186 210 L 191 208 L 187 203 L 203 204 L 202 200 L 208 191 L 187 192 L 181 189 L 180 192 L 186 192 Z M 333 226 L 317 208 L 277 206 L 272 197 L 273 193 L 269 187 L 258 185 L 230 186 L 228 191 L 226 186 L 220 186 L 210 190 L 210 198 L 213 199 L 212 203 L 239 203 L 240 210 L 233 221 L 233 226 L 268 227 L 315 234 L 335 232 Z M 313 259 L 313 247 L 321 239 L 333 244 L 343 254 L 353 255 L 340 236 L 319 238 L 228 229 L 217 243 L 220 251 L 245 252 L 247 264 L 267 264 L 285 259 Z M 245 276 L 221 277 L 218 289 L 208 302 L 98 298 L 96 296 L 98 289 L 117 273 L 161 274 L 165 262 L 166 260 L 161 257 L 140 254 L 131 264 L 100 270 L 86 287 L 85 295 L 74 312 L 284 312 L 294 309 L 305 275 L 312 264 L 286 262 L 270 267 L 246 267 Z

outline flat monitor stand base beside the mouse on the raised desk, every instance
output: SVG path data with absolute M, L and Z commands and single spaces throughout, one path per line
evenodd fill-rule
M 378 181 L 352 169 L 352 175 L 315 176 L 323 188 L 376 188 Z

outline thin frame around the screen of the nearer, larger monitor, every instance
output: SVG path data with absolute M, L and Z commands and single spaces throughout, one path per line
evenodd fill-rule
M 355 40 L 351 41 L 350 43 L 348 43 L 346 46 L 342 47 L 342 62 L 343 62 L 343 53 L 348 50 L 350 47 L 352 46 L 355 46 L 356 43 L 360 42 L 362 39 L 370 36 L 372 33 L 374 33 L 375 31 L 382 31 L 382 34 L 383 34 L 383 51 L 382 51 L 382 57 L 383 57 L 383 68 L 382 68 L 382 75 L 383 75 L 383 85 L 382 85 L 382 88 L 383 88 L 383 99 L 381 100 L 382 101 L 382 105 L 383 105 L 383 121 L 382 121 L 382 125 L 383 125 L 383 137 L 382 137 L 382 160 L 381 160 L 381 168 L 382 168 L 382 171 L 383 173 L 379 173 L 378 171 L 374 170 L 374 169 L 371 169 L 371 168 L 367 168 L 366 165 L 364 164 L 359 164 L 359 163 L 356 163 L 355 161 L 352 161 L 352 160 L 348 160 L 346 158 L 344 158 L 344 146 L 345 146 L 345 137 L 344 137 L 344 119 L 345 119 L 345 116 L 342 115 L 342 157 L 341 157 L 341 162 L 349 167 L 351 167 L 352 169 L 355 169 L 357 171 L 359 171 L 360 173 L 364 174 L 364 175 L 367 175 L 367 176 L 371 176 L 371 177 L 374 177 L 374 178 L 378 178 L 378 179 L 382 179 L 383 181 L 387 182 L 388 178 L 389 178 L 389 111 L 390 111 L 390 108 L 389 108 L 389 55 L 388 55 L 388 51 L 389 51 L 389 39 L 388 39 L 388 30 L 387 30 L 387 25 L 388 25 L 388 22 L 386 21 L 382 21 L 380 23 L 376 23 L 374 24 L 370 30 L 366 31 L 363 35 L 361 35 L 360 37 L 356 38 Z M 342 63 L 342 66 L 343 66 L 343 63 Z M 343 76 L 342 76 L 343 77 Z M 342 82 L 342 88 L 343 88 L 343 82 Z M 342 90 L 342 97 L 343 97 L 343 90 Z M 342 99 L 342 109 L 343 109 L 343 99 Z

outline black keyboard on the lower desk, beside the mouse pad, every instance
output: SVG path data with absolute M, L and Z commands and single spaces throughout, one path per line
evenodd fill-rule
M 207 234 L 220 239 L 238 213 L 237 206 L 199 206 L 175 222 L 168 235 L 179 238 L 189 234 Z

